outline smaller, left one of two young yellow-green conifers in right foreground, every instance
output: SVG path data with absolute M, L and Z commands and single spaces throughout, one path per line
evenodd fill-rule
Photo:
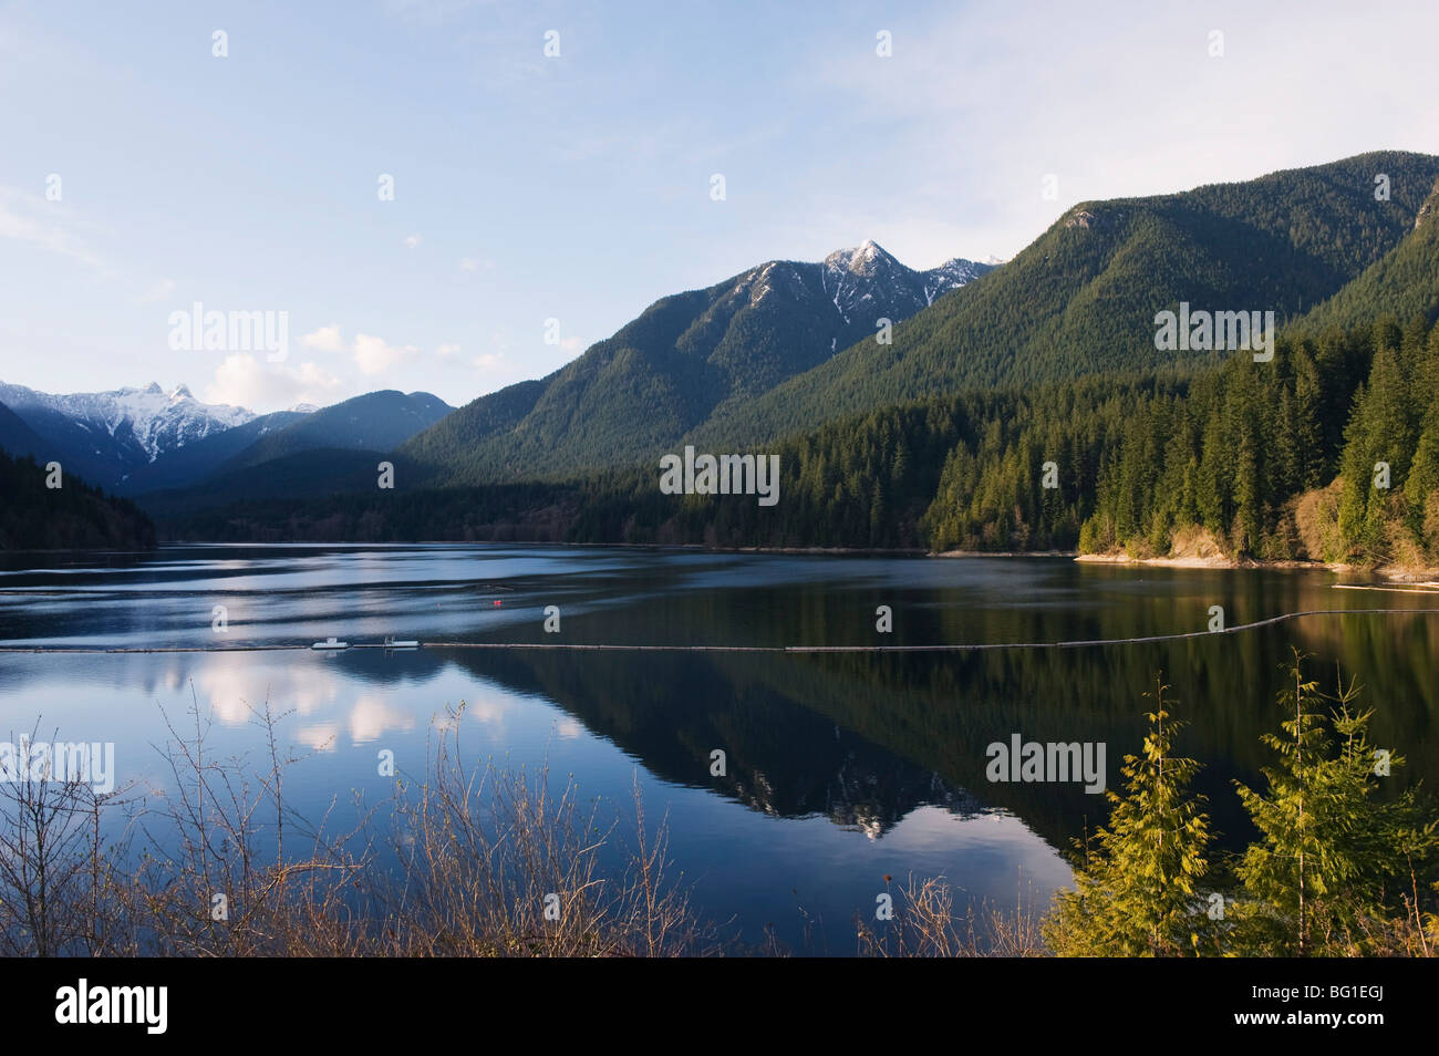
M 1124 757 L 1124 796 L 1107 793 L 1114 809 L 1107 829 L 1084 845 L 1075 891 L 1062 892 L 1043 922 L 1059 957 L 1183 957 L 1209 952 L 1210 922 L 1197 891 L 1209 862 L 1209 816 L 1189 784 L 1194 760 L 1174 755 L 1174 734 L 1156 682 L 1156 709 L 1143 754 Z M 1145 696 L 1151 696 L 1145 693 Z

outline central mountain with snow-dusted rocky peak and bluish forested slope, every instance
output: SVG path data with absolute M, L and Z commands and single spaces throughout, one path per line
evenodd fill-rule
M 403 452 L 439 483 L 633 462 L 991 269 L 954 259 L 914 270 L 873 242 L 816 263 L 770 260 L 656 301 L 554 374 L 475 400 Z

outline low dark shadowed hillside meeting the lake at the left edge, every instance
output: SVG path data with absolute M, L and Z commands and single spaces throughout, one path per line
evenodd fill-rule
M 0 434 L 14 436 L 9 411 Z M 62 466 L 60 486 L 30 458 L 0 450 L 0 550 L 153 550 L 155 528 L 134 504 L 106 498 Z

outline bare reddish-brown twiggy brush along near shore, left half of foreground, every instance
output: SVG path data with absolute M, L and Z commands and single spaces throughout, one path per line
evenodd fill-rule
M 666 827 L 602 824 L 573 783 L 471 768 L 459 712 L 437 727 L 426 773 L 400 781 L 378 810 L 328 836 L 282 794 L 269 765 L 216 760 L 199 708 L 173 724 L 174 791 L 147 804 L 134 790 L 96 796 L 83 783 L 0 783 L 0 954 L 10 957 L 668 957 L 718 952 L 714 931 L 668 876 Z M 167 724 L 168 724 L 167 716 Z M 334 804 L 331 804 L 332 807 Z M 102 819 L 122 811 L 119 837 Z M 325 811 L 328 819 L 330 811 Z M 114 826 L 111 826 L 114 830 Z M 135 843 L 170 847 L 154 856 Z M 296 853 L 296 846 L 299 852 Z M 390 847 L 399 870 L 380 863 Z M 600 869 L 602 850 L 623 865 Z

